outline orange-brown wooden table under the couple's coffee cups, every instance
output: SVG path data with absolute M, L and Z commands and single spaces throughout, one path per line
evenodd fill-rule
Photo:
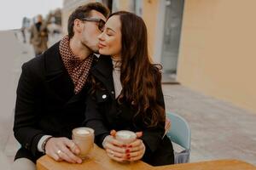
M 256 167 L 245 162 L 238 160 L 218 160 L 218 161 L 201 161 L 195 163 L 176 164 L 160 167 L 152 167 L 143 161 L 132 163 L 119 163 L 111 160 L 105 150 L 95 145 L 94 150 L 91 152 L 89 158 L 82 164 L 70 164 L 65 161 L 57 162 L 49 156 L 42 156 L 37 161 L 38 170 L 256 170 Z

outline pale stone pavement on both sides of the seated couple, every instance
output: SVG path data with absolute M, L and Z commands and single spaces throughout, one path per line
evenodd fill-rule
M 0 43 L 4 44 L 0 47 L 0 165 L 8 170 L 18 149 L 12 127 L 20 66 L 34 54 L 32 47 L 17 41 L 12 31 L 0 31 Z M 191 127 L 191 162 L 236 158 L 256 165 L 256 113 L 181 85 L 163 85 L 163 91 L 166 111 L 183 116 Z

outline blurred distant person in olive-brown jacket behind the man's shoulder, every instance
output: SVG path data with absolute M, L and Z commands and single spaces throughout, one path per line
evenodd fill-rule
M 48 30 L 41 14 L 38 14 L 37 21 L 31 26 L 30 32 L 30 43 L 34 48 L 35 54 L 42 54 L 48 48 Z

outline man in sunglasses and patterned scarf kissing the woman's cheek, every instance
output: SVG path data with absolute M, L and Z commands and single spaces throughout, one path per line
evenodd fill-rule
M 72 129 L 83 126 L 86 81 L 108 13 L 102 3 L 76 8 L 68 37 L 22 65 L 14 124 L 21 148 L 13 169 L 35 169 L 44 153 L 56 161 L 82 162 Z

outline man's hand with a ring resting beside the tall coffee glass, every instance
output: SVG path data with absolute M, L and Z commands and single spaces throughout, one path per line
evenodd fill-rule
M 79 147 L 67 138 L 51 138 L 45 144 L 46 155 L 55 159 L 55 161 L 67 161 L 70 163 L 82 163 L 78 155 Z

